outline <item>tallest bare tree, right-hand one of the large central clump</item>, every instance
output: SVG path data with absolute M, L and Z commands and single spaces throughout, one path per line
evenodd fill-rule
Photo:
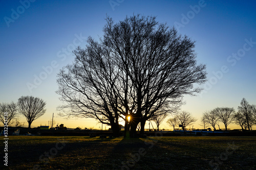
M 132 103 L 123 102 L 124 114 L 135 104 L 130 133 L 134 136 L 141 123 L 143 134 L 146 120 L 154 117 L 159 108 L 170 113 L 168 108 L 180 104 L 183 94 L 201 90 L 193 88 L 193 84 L 205 82 L 205 65 L 196 63 L 194 41 L 179 35 L 175 28 L 159 24 L 155 17 L 136 15 L 116 24 L 107 18 L 107 22 L 104 44 L 136 94 L 129 92 Z

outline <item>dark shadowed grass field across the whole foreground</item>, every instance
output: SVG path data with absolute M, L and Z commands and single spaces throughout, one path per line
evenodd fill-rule
M 0 169 L 256 169 L 255 162 L 256 137 L 9 136 L 8 168 Z

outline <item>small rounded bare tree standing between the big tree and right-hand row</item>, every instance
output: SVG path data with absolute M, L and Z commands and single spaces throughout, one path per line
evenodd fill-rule
M 184 130 L 188 125 L 193 124 L 197 121 L 195 117 L 192 116 L 191 113 L 187 111 L 179 112 L 175 118 L 177 119 L 177 123 L 182 125 L 182 130 Z

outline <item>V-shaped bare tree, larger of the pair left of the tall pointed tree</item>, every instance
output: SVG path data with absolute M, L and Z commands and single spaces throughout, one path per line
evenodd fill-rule
M 227 130 L 227 126 L 233 122 L 233 114 L 236 113 L 234 111 L 234 108 L 215 108 L 212 110 L 214 114 L 216 114 L 219 118 L 219 120 L 224 124 L 225 129 Z

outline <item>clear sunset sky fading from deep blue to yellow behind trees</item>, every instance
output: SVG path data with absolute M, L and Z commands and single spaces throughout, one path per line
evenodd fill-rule
M 196 41 L 198 63 L 206 64 L 208 74 L 200 94 L 183 98 L 181 109 L 198 119 L 190 128 L 203 128 L 200 118 L 207 110 L 237 111 L 243 98 L 256 104 L 255 1 L 2 0 L 0 4 L 0 103 L 17 102 L 26 95 L 46 101 L 46 113 L 32 127 L 48 125 L 53 113 L 56 123 L 68 128 L 101 127 L 94 119 L 60 117 L 56 108 L 62 103 L 55 91 L 59 70 L 74 61 L 74 48 L 84 47 L 89 36 L 102 37 L 106 15 L 115 22 L 133 14 L 156 16 L 158 22 Z M 18 118 L 28 126 L 24 116 Z M 172 129 L 166 120 L 160 128 Z

